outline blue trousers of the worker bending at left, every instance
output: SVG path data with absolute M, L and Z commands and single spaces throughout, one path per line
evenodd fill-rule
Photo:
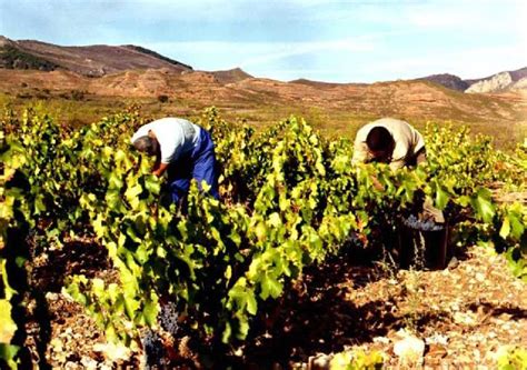
M 172 201 L 179 202 L 190 188 L 190 180 L 196 179 L 201 189 L 201 181 L 209 186 L 209 193 L 219 199 L 218 168 L 215 157 L 215 143 L 207 130 L 201 129 L 196 148 L 189 156 L 183 156 L 168 168 L 168 180 Z

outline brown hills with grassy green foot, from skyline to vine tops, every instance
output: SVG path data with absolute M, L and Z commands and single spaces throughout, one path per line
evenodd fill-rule
M 370 84 L 284 82 L 239 68 L 196 71 L 137 46 L 59 47 L 7 38 L 0 38 L 0 104 L 23 107 L 44 99 L 74 124 L 141 103 L 156 117 L 191 117 L 216 106 L 226 118 L 256 126 L 299 114 L 322 131 L 348 137 L 387 116 L 421 129 L 429 120 L 468 123 L 506 144 L 527 133 L 526 69 L 507 72 L 513 83 L 499 93 L 464 93 L 464 83 L 477 81 L 435 74 Z

